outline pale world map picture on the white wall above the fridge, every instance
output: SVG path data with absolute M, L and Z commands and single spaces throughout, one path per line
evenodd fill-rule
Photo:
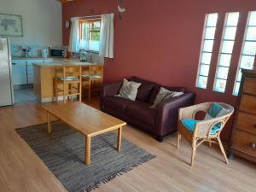
M 0 36 L 22 37 L 22 19 L 20 15 L 0 14 Z

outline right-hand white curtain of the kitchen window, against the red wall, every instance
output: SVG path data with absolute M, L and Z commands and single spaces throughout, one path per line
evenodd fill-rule
M 101 15 L 101 36 L 99 56 L 113 58 L 113 14 Z

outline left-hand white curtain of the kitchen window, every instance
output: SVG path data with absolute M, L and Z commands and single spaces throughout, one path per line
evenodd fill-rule
M 69 52 L 79 52 L 79 18 L 71 18 L 72 26 L 69 38 Z

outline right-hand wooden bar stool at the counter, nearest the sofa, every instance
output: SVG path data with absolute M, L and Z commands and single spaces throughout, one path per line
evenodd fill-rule
M 82 67 L 82 87 L 88 90 L 88 100 L 92 92 L 100 92 L 103 84 L 103 66 L 91 65 Z

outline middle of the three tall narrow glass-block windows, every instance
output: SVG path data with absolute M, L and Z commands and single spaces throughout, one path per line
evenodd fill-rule
M 236 38 L 236 28 L 239 13 L 227 13 L 224 22 L 224 31 L 218 55 L 218 67 L 215 73 L 213 90 L 224 93 L 230 69 L 230 61 Z

